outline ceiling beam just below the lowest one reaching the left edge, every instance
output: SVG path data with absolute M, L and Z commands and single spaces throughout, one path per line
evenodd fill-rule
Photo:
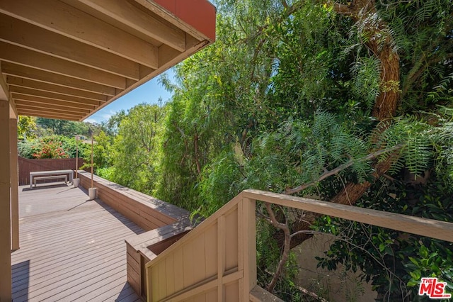
M 6 77 L 6 84 L 9 86 L 26 87 L 31 89 L 37 89 L 41 91 L 54 92 L 55 94 L 65 94 L 67 96 L 77 96 L 84 99 L 92 99 L 95 101 L 108 101 L 109 97 L 103 94 L 95 94 L 90 91 L 84 91 L 79 89 L 72 89 L 64 86 L 52 85 L 49 83 L 33 81 L 31 79 L 23 79 L 21 77 Z

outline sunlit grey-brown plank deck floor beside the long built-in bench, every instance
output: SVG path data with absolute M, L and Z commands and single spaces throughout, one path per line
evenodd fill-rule
M 125 238 L 142 228 L 84 189 L 19 188 L 13 301 L 141 301 L 126 282 Z

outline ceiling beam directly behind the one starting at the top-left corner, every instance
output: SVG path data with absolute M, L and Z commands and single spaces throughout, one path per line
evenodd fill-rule
M 0 3 L 3 3 L 3 0 Z M 0 13 L 0 40 L 128 79 L 136 81 L 139 79 L 137 62 L 52 33 L 3 13 Z

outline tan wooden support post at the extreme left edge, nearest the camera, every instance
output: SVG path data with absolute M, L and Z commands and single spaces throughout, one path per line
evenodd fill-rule
M 0 301 L 11 301 L 9 102 L 0 99 Z

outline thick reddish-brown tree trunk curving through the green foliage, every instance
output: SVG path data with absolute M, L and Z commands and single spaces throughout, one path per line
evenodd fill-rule
M 394 40 L 390 35 L 390 30 L 386 23 L 380 19 L 375 18 L 377 9 L 374 0 L 355 0 L 350 5 L 335 4 L 334 9 L 337 13 L 350 16 L 355 22 L 362 23 L 362 28 L 365 28 L 362 35 L 369 37 L 365 45 L 375 55 L 381 63 L 380 72 L 380 93 L 374 103 L 373 116 L 379 121 L 386 121 L 395 116 L 396 107 L 400 98 L 400 67 L 399 56 L 394 51 Z M 384 37 L 384 38 L 383 38 Z M 384 127 L 379 128 L 384 131 Z M 376 150 L 372 150 L 376 151 Z M 392 162 L 398 158 L 396 152 L 389 155 L 384 162 L 379 162 L 374 166 L 374 179 L 382 177 L 391 167 Z M 348 183 L 344 188 L 338 192 L 336 196 L 331 199 L 333 203 L 354 205 L 360 197 L 372 185 L 371 182 L 365 181 L 362 184 Z M 314 223 L 315 219 L 320 215 L 316 213 L 306 213 L 304 216 L 292 223 L 291 230 L 293 233 L 299 230 L 310 230 L 310 226 Z M 292 237 L 291 248 L 297 247 L 305 240 L 309 239 L 312 235 L 300 234 Z M 285 237 L 282 232 L 276 234 L 275 239 L 279 246 L 285 242 Z

